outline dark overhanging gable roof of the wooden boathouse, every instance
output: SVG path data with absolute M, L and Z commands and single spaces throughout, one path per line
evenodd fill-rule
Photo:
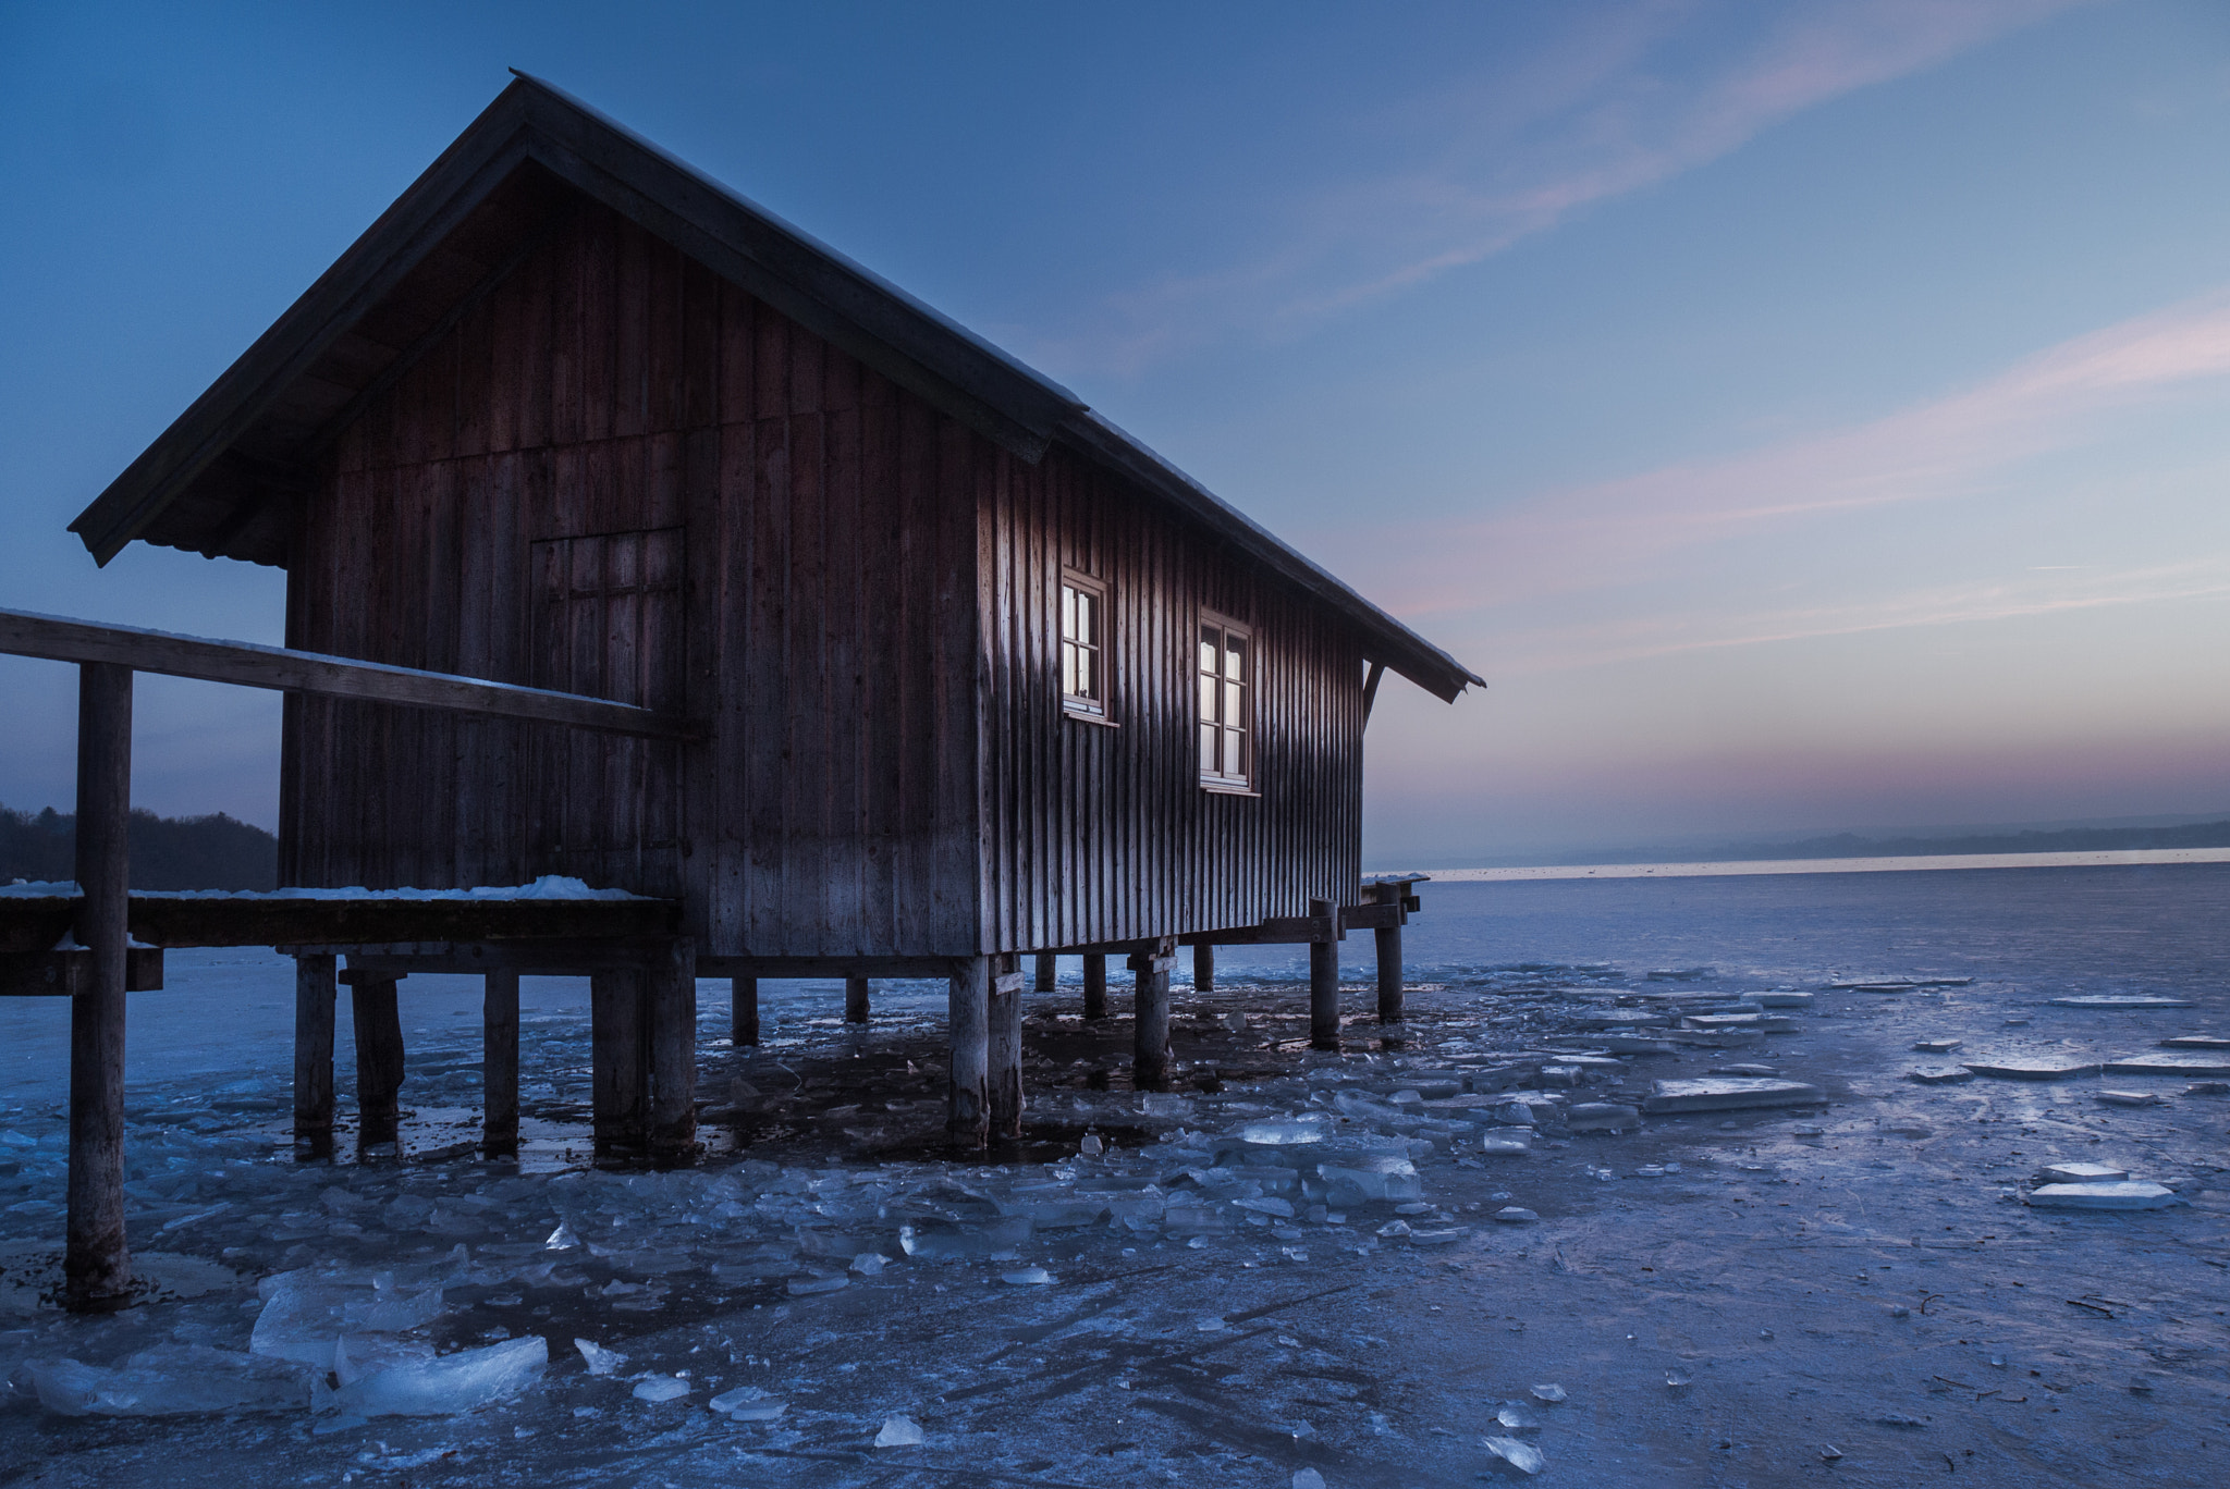
M 584 194 L 1035 464 L 1053 441 L 1342 613 L 1365 655 L 1454 700 L 1470 669 L 1070 390 L 560 89 L 513 74 L 479 118 L 94 499 L 71 533 L 285 564 L 317 457 Z

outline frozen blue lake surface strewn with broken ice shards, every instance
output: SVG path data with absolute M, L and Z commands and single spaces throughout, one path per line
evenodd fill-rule
M 1427 885 L 1400 1048 L 1356 1023 L 1345 1057 L 1309 1054 L 1300 956 L 1226 947 L 1211 999 L 1180 958 L 1169 1099 L 1126 1088 L 1128 1023 L 1086 1028 L 1064 963 L 1028 996 L 1030 1146 L 990 1164 L 934 1146 L 941 983 L 879 983 L 865 1032 L 836 983 L 767 983 L 769 1043 L 734 1052 L 707 981 L 711 1157 L 671 1175 L 582 1166 L 569 979 L 522 987 L 520 1166 L 297 1164 L 292 965 L 174 952 L 129 1028 L 132 1239 L 161 1291 L 112 1320 L 40 1304 L 67 1008 L 0 1005 L 0 1464 L 42 1485 L 1280 1489 L 1313 1469 L 1340 1489 L 1521 1476 L 1530 1447 L 1588 1485 L 2203 1482 L 2230 1433 L 2230 1099 L 1904 1072 L 1920 1039 L 1962 1041 L 1929 1061 L 2081 1065 L 2230 1034 L 2226 912 L 2230 865 Z M 1342 952 L 1363 1014 L 1369 936 Z M 1831 987 L 1869 979 L 1971 983 Z M 1775 987 L 1813 994 L 1786 1032 L 1557 1063 L 1603 1048 L 1606 1012 Z M 406 1141 L 442 1152 L 477 1121 L 479 987 L 401 992 Z M 343 1110 L 346 1041 L 343 1016 Z M 1574 1130 L 1579 1103 L 1728 1063 L 1820 1103 Z M 2096 1097 L 2132 1083 L 2165 1103 Z M 2176 1206 L 2020 1204 L 2074 1159 Z M 591 1373 L 575 1340 L 627 1360 Z M 194 1404 L 187 1380 L 236 1409 L 134 1415 Z M 56 1409 L 74 1400 L 109 1407 Z M 381 1413 L 397 1402 L 433 1413 Z

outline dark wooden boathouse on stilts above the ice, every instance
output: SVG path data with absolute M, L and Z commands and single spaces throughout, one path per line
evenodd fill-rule
M 1084 954 L 1099 1010 L 1131 958 L 1140 1086 L 1180 945 L 1206 974 L 1218 943 L 1311 943 L 1336 1041 L 1336 941 L 1398 947 L 1414 907 L 1360 885 L 1371 700 L 1389 671 L 1478 682 L 1061 386 L 526 76 L 71 531 L 103 564 L 138 539 L 288 571 L 285 651 L 239 651 L 323 684 L 187 669 L 288 691 L 281 883 L 558 874 L 667 909 L 290 930 L 308 1130 L 337 956 L 359 1028 L 413 970 L 591 974 L 622 1150 L 694 1139 L 696 976 L 736 979 L 738 1041 L 763 976 L 847 976 L 861 1014 L 865 979 L 950 979 L 972 1141 L 1021 1115 L 1032 954 Z M 0 649 L 181 671 L 33 620 Z

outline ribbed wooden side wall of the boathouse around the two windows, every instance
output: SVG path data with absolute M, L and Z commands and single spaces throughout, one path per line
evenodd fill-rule
M 1320 606 L 1229 559 L 1055 446 L 983 490 L 986 936 L 992 950 L 1258 925 L 1354 903 L 1363 651 Z M 1061 713 L 1061 566 L 1108 586 L 1108 722 Z M 1253 626 L 1253 789 L 1200 787 L 1200 611 Z

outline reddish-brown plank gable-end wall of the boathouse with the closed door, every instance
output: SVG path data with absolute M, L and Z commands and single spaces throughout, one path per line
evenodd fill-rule
M 709 954 L 979 943 L 990 446 L 584 205 L 346 430 L 288 644 L 673 707 L 702 744 L 288 707 L 303 885 L 578 874 Z

